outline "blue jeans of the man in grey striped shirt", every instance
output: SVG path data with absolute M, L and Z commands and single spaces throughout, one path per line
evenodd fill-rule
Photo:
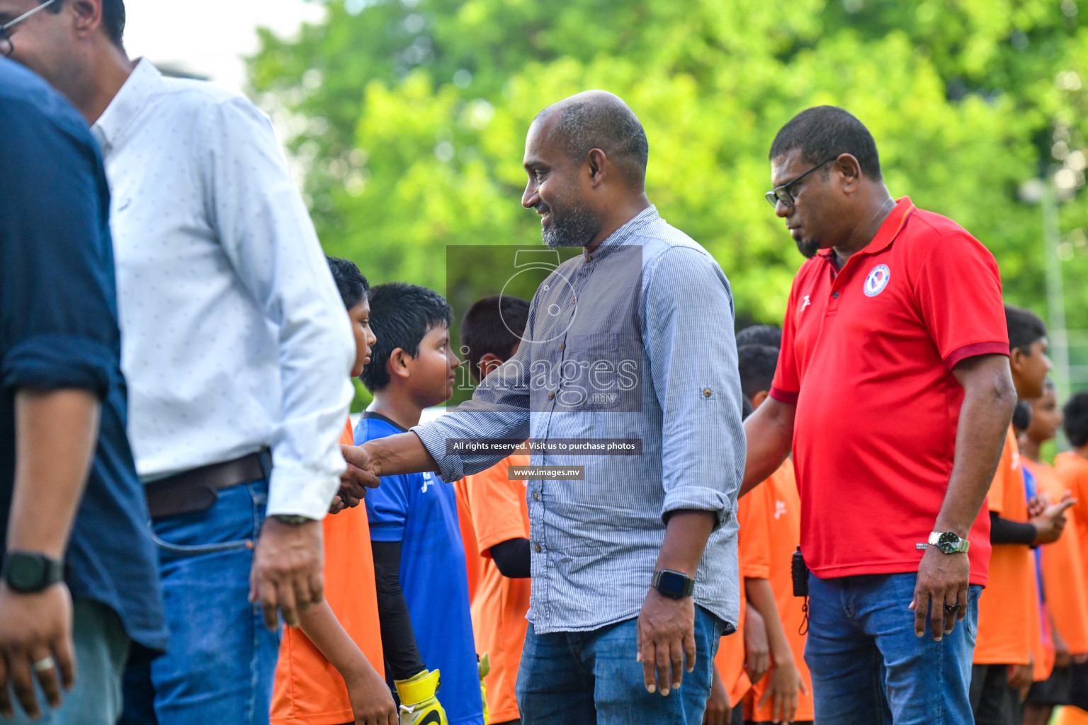
M 695 671 L 662 697 L 635 661 L 635 622 L 548 635 L 530 624 L 515 687 L 522 725 L 700 725 L 725 623 L 695 607 Z

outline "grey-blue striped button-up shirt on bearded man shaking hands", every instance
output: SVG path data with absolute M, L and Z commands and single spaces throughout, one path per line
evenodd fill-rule
M 412 428 L 454 482 L 506 452 L 447 441 L 641 440 L 639 454 L 533 450 L 532 465 L 584 466 L 530 479 L 529 620 L 539 634 L 636 616 L 671 511 L 713 511 L 695 602 L 735 626 L 737 491 L 744 471 L 729 282 L 650 207 L 533 296 L 517 354 L 472 400 Z

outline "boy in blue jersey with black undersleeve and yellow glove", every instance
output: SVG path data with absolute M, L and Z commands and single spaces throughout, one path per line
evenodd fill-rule
M 449 343 L 453 310 L 441 295 L 394 283 L 369 298 L 378 342 L 360 378 L 374 402 L 356 426 L 356 446 L 417 425 L 424 408 L 453 393 L 460 365 Z M 366 503 L 382 649 L 404 721 L 482 725 L 456 490 L 431 473 L 385 476 Z

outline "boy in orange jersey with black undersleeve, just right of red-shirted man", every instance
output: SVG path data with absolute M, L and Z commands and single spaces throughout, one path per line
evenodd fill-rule
M 1051 370 L 1047 326 L 1028 310 L 1005 305 L 1013 384 L 1021 400 L 1042 396 Z M 978 600 L 978 635 L 970 707 L 976 725 L 1021 725 L 1022 701 L 1034 679 L 1039 601 L 1030 547 L 1054 541 L 1072 503 L 1028 515 L 1019 448 L 1012 427 L 987 499 L 990 510 L 989 579 Z

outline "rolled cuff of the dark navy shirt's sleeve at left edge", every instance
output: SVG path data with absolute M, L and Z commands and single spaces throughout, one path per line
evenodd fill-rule
M 119 352 L 81 335 L 50 333 L 16 342 L 0 361 L 0 385 L 16 388 L 92 390 L 99 398 L 120 379 Z

